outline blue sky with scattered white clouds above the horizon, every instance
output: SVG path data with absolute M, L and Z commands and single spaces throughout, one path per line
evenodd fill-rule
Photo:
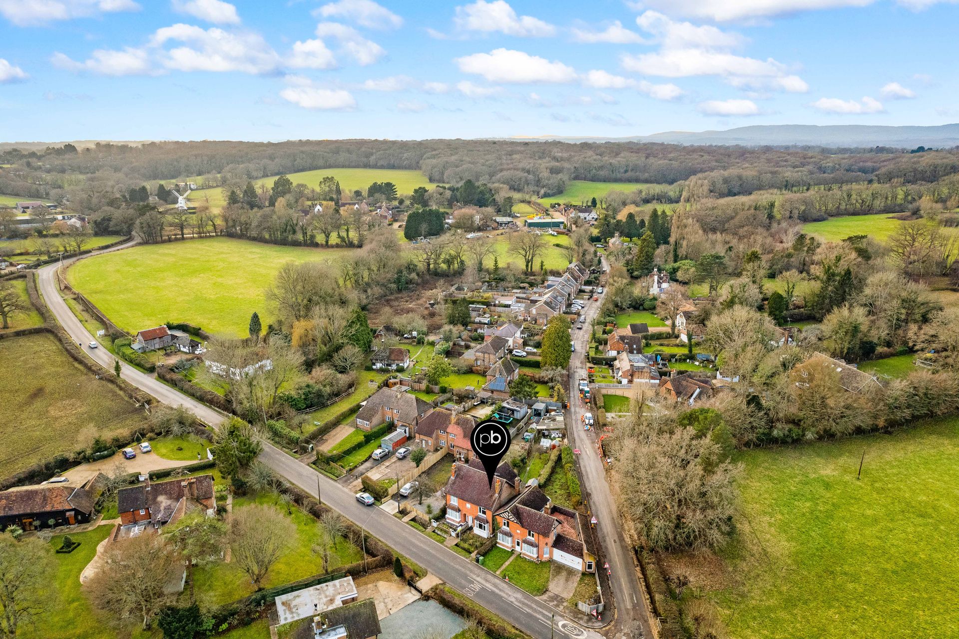
M 0 0 L 0 140 L 959 121 L 936 0 Z

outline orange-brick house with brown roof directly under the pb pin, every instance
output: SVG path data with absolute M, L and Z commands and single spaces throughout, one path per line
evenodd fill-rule
M 446 521 L 454 527 L 465 522 L 479 536 L 488 537 L 494 527 L 493 513 L 519 492 L 520 478 L 505 461 L 497 467 L 492 486 L 479 460 L 457 461 L 446 485 Z

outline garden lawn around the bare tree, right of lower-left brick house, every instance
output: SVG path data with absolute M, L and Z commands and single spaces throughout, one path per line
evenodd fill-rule
M 313 546 L 320 543 L 316 519 L 295 506 L 292 515 L 288 515 L 285 507 L 277 505 L 275 493 L 239 497 L 233 500 L 233 509 L 242 509 L 254 503 L 271 506 L 277 516 L 291 519 L 296 526 L 296 535 L 291 540 L 290 548 L 272 565 L 262 585 L 269 588 L 321 573 L 322 559 L 312 551 Z M 340 538 L 338 546 L 330 558 L 330 570 L 363 558 L 363 552 L 346 539 Z M 197 568 L 194 582 L 198 595 L 202 593 L 213 605 L 242 599 L 253 592 L 249 578 L 233 563 L 218 562 Z

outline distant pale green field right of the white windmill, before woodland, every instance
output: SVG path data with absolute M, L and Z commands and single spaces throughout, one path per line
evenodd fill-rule
M 292 179 L 293 184 L 306 184 L 316 188 L 319 180 L 327 176 L 333 176 L 339 180 L 339 188 L 342 192 L 343 200 L 353 200 L 353 191 L 362 189 L 363 192 L 373 182 L 393 182 L 396 184 L 397 195 L 410 195 L 417 186 L 432 188 L 433 182 L 428 180 L 419 171 L 407 169 L 317 169 L 316 171 L 302 171 L 300 173 L 287 174 L 287 178 Z M 253 180 L 253 183 L 259 187 L 260 184 L 266 184 L 268 188 L 273 186 L 278 176 L 269 178 L 260 178 Z M 192 178 L 199 181 L 202 178 Z M 173 180 L 175 181 L 175 180 Z M 200 182 L 201 183 L 201 182 Z M 169 186 L 169 184 L 167 184 Z M 223 200 L 222 188 L 217 186 L 209 189 L 199 189 L 190 194 L 190 201 L 199 204 L 206 201 L 215 208 L 219 208 L 226 202 Z M 295 202 L 293 202 L 295 203 Z

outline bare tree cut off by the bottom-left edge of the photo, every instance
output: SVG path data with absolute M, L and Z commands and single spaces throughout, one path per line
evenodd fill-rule
M 51 550 L 39 539 L 0 535 L 0 631 L 15 637 L 35 617 L 49 614 L 50 576 L 57 572 Z

